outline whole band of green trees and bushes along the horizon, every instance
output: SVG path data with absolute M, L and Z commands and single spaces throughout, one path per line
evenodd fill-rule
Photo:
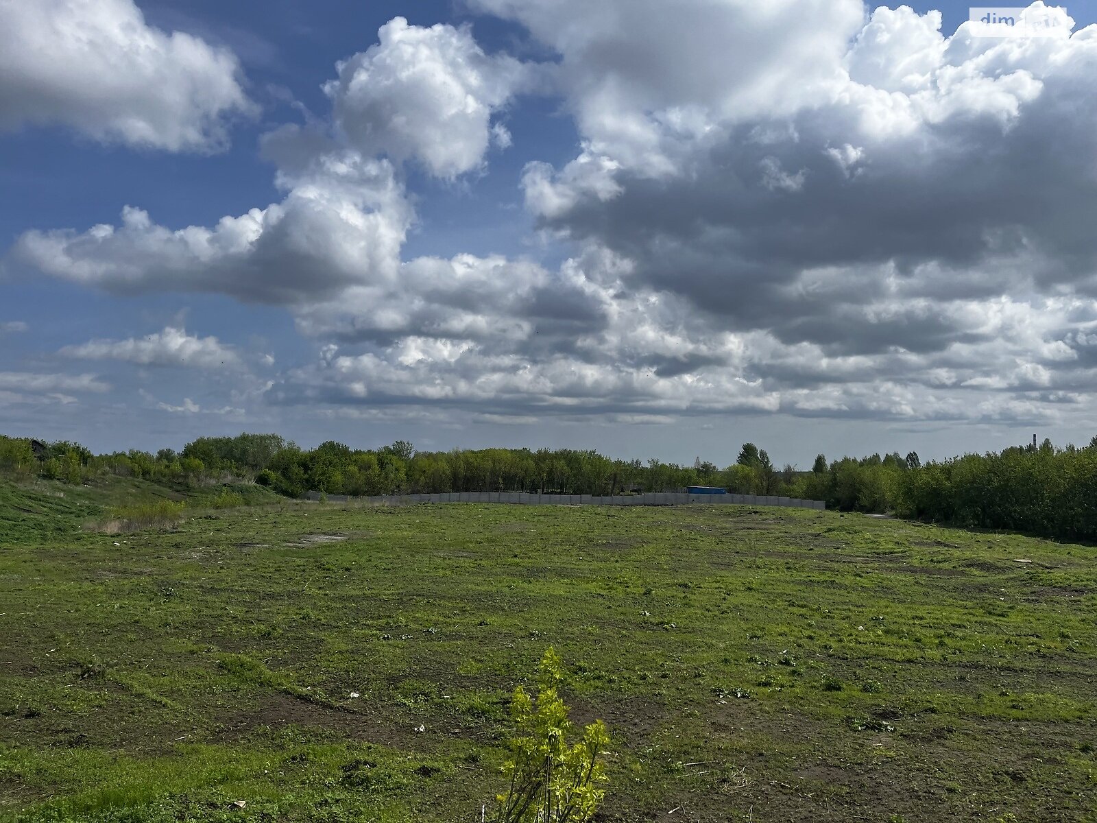
M 745 443 L 733 465 L 692 466 L 613 460 L 573 449 L 454 449 L 416 451 L 397 441 L 362 450 L 328 441 L 302 449 L 278 435 L 204 437 L 181 452 L 161 449 L 92 454 L 71 442 L 39 444 L 0 437 L 0 472 L 38 474 L 69 483 L 102 474 L 159 482 L 213 484 L 253 481 L 299 497 L 443 492 L 530 492 L 613 495 L 666 492 L 692 485 L 728 492 L 825 500 L 842 511 L 893 512 L 961 527 L 1022 531 L 1097 541 L 1097 438 L 1087 447 L 1043 444 L 1000 453 L 965 454 L 923 464 L 906 456 L 819 454 L 810 472 L 773 465 Z

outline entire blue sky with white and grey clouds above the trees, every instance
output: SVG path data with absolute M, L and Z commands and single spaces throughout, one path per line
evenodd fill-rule
M 1068 11 L 0 0 L 0 431 L 1087 442 L 1097 0 Z

